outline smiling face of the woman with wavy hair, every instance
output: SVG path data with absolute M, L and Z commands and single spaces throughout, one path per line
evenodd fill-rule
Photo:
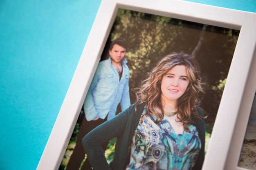
M 189 79 L 186 72 L 186 66 L 177 65 L 169 70 L 162 78 L 161 97 L 165 103 L 177 102 L 186 91 L 189 85 Z

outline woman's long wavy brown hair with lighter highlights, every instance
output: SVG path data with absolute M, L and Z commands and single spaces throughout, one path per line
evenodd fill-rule
M 152 69 L 149 77 L 144 80 L 140 88 L 137 88 L 137 103 L 146 105 L 145 115 L 155 115 L 156 123 L 164 118 L 164 110 L 161 99 L 161 82 L 163 76 L 174 66 L 186 66 L 189 85 L 185 93 L 177 101 L 177 117 L 188 131 L 190 124 L 193 124 L 193 117 L 202 118 L 197 112 L 200 98 L 204 94 L 198 63 L 193 56 L 181 53 L 171 53 L 160 60 Z M 141 117 L 141 122 L 143 119 Z

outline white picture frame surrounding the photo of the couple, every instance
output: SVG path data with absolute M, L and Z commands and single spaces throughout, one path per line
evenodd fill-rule
M 237 164 L 256 87 L 256 13 L 181 0 L 102 0 L 37 170 L 58 169 L 119 8 L 240 30 L 202 170 L 246 170 Z

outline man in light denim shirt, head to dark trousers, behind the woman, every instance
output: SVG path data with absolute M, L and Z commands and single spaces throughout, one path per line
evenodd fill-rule
M 129 68 L 124 58 L 126 49 L 126 40 L 117 38 L 110 44 L 109 59 L 99 62 L 83 104 L 86 119 L 83 117 L 76 147 L 66 170 L 78 170 L 84 159 L 85 152 L 81 145 L 81 139 L 92 129 L 114 117 L 119 103 L 122 111 L 130 106 Z M 104 144 L 104 150 L 107 145 L 108 143 Z M 86 159 L 81 170 L 90 169 L 90 163 Z

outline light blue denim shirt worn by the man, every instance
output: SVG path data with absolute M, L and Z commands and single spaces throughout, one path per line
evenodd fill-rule
M 99 62 L 83 104 L 88 121 L 97 116 L 104 119 L 107 114 L 108 119 L 111 119 L 115 116 L 119 103 L 122 111 L 130 106 L 129 68 L 126 63 L 127 60 L 123 59 L 123 73 L 119 81 L 119 74 L 111 64 L 111 57 Z

